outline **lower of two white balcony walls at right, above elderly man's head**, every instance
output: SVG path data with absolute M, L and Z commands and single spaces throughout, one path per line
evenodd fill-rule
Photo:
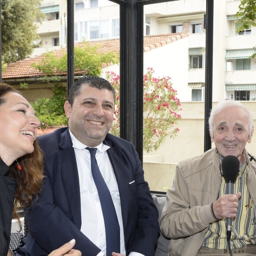
M 233 70 L 225 72 L 225 84 L 255 83 L 255 70 Z

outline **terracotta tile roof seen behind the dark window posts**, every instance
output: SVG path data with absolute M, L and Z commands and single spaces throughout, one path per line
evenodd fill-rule
M 160 34 L 153 36 L 144 37 L 144 52 L 163 45 L 169 44 L 173 41 L 177 41 L 181 38 L 187 37 L 186 33 L 179 34 Z M 119 52 L 120 40 L 118 39 L 108 39 L 101 41 L 88 41 L 90 46 L 98 46 L 99 53 L 107 53 L 110 51 Z M 75 44 L 76 47 L 83 48 L 83 43 Z M 63 56 L 66 53 L 67 48 L 62 48 L 54 51 L 57 58 Z M 45 76 L 43 73 L 39 72 L 37 68 L 31 67 L 32 63 L 38 63 L 40 60 L 44 59 L 44 54 L 27 58 L 25 60 L 19 60 L 15 63 L 8 64 L 5 71 L 2 73 L 2 79 L 19 79 L 19 78 L 35 78 Z M 63 74 L 66 75 L 66 74 Z

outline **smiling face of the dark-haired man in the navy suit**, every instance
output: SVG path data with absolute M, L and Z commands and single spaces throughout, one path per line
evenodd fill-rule
M 114 104 L 112 91 L 83 85 L 73 105 L 64 104 L 69 129 L 76 139 L 89 147 L 102 143 L 113 123 Z

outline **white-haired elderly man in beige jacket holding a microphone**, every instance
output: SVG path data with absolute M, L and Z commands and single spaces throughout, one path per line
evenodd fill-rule
M 215 148 L 180 162 L 167 192 L 160 226 L 171 238 L 168 256 L 256 254 L 256 162 L 245 150 L 252 140 L 252 114 L 240 102 L 219 102 L 209 130 Z M 234 194 L 226 195 L 222 159 L 228 155 L 237 157 L 240 167 Z M 233 220 L 230 247 L 226 218 Z

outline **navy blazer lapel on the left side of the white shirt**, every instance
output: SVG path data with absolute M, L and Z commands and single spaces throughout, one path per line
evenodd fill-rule
M 81 201 L 80 201 L 80 187 L 77 164 L 75 160 L 75 151 L 72 147 L 72 140 L 68 129 L 61 135 L 60 157 L 62 159 L 61 173 L 63 178 L 64 188 L 70 205 L 75 226 L 81 228 Z

